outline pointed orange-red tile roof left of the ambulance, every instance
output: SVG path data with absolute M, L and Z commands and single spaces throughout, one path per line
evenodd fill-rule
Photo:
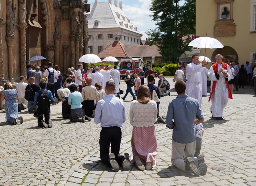
M 125 44 L 121 41 L 114 41 L 110 45 L 108 45 L 105 49 L 103 49 L 101 52 L 97 54 L 100 58 L 106 58 L 108 56 L 113 56 L 115 58 L 125 58 L 128 57 L 126 55 Z

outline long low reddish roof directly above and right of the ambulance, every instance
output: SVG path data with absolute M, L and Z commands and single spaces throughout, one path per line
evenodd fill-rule
M 125 46 L 127 57 L 161 57 L 156 45 L 129 45 Z

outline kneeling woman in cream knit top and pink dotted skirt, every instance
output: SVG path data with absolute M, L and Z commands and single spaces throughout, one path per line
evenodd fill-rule
M 130 124 L 132 128 L 132 163 L 139 170 L 151 170 L 156 166 L 157 142 L 154 123 L 156 122 L 156 102 L 151 100 L 149 87 L 141 85 L 137 99 L 131 102 Z M 145 165 L 145 166 L 144 166 Z

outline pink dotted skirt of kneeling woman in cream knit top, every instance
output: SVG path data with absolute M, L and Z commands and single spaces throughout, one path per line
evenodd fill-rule
M 153 162 L 153 167 L 156 166 L 155 157 L 157 154 L 157 141 L 155 126 L 151 127 L 135 127 L 132 128 L 131 149 L 134 156 L 139 156 L 143 164 Z

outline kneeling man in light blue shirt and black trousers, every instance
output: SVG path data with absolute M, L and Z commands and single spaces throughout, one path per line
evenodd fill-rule
M 111 166 L 115 172 L 119 171 L 119 165 L 123 167 L 124 171 L 128 171 L 130 167 L 129 154 L 124 153 L 124 156 L 119 154 L 122 138 L 121 127 L 125 122 L 125 105 L 121 99 L 114 96 L 115 90 L 114 82 L 106 82 L 107 96 L 98 101 L 94 122 L 101 123 L 102 127 L 100 132 L 101 161 Z M 111 153 L 109 154 L 110 143 Z

